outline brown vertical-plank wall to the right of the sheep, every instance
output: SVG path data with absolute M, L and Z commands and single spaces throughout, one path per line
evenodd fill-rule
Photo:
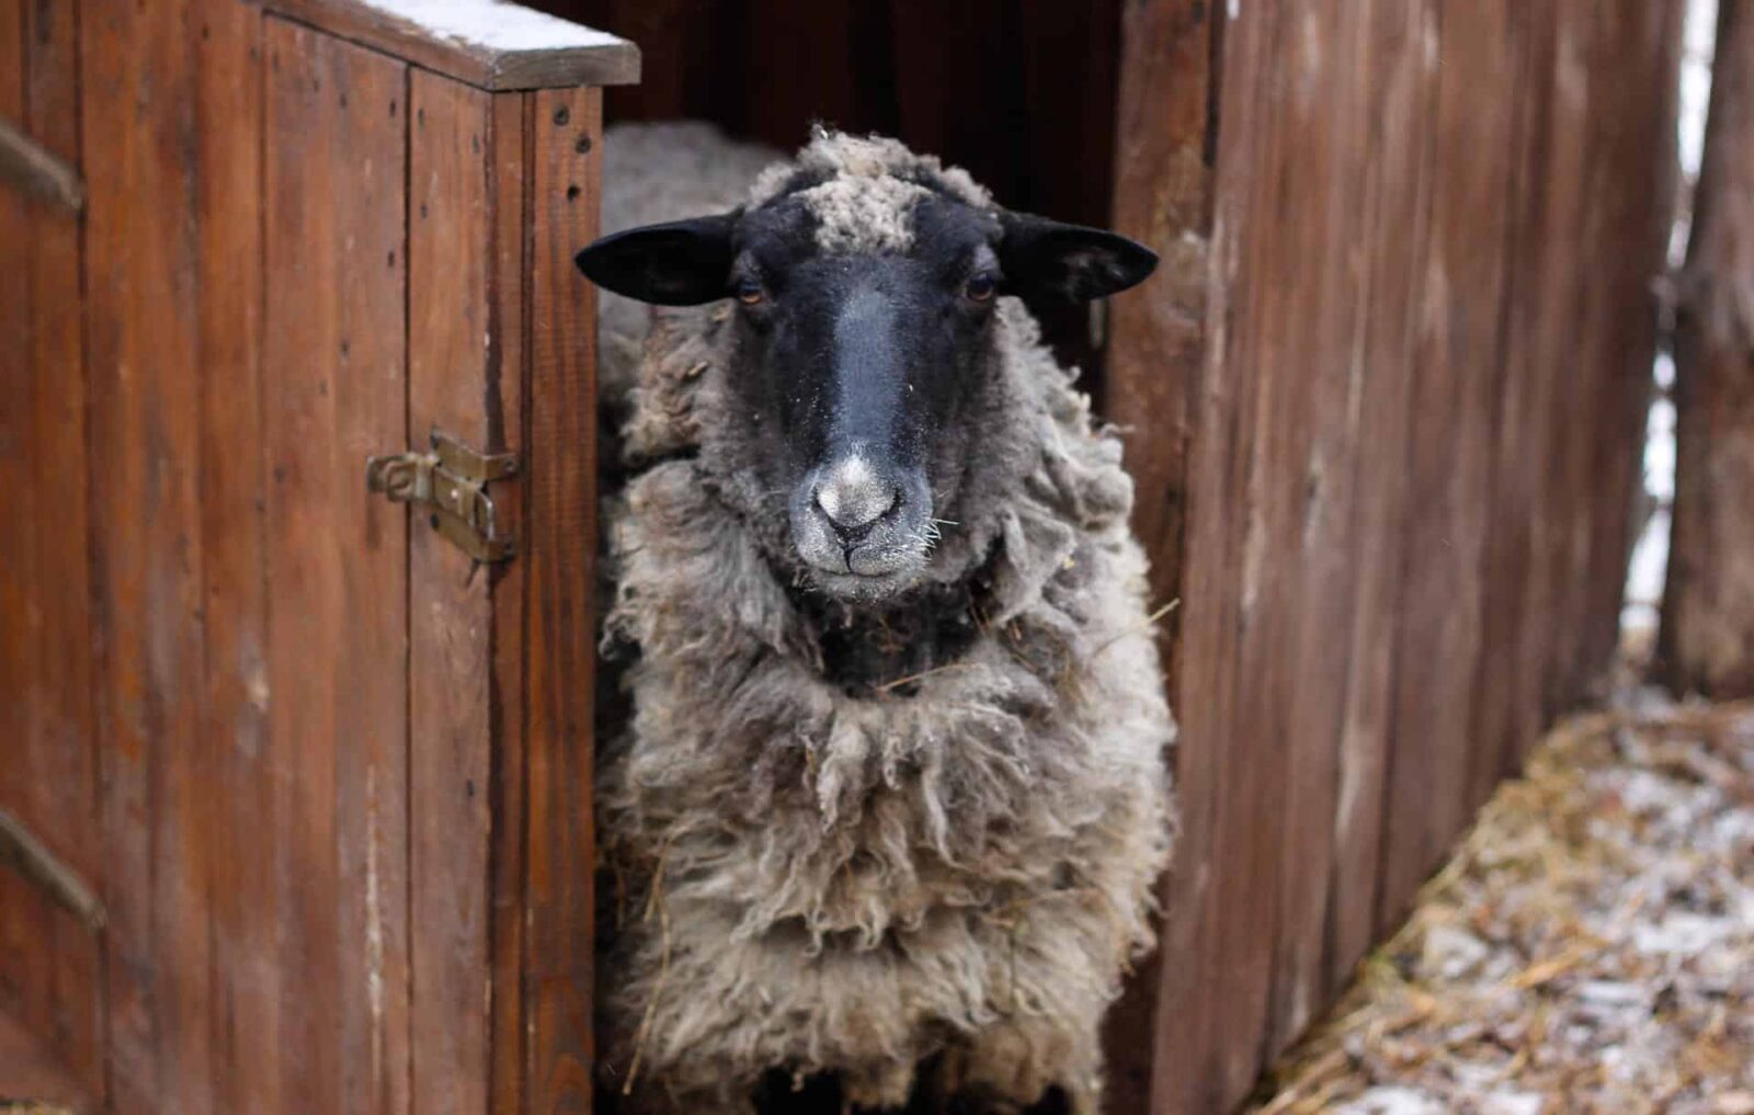
M 1610 663 L 1682 5 L 1140 7 L 1116 219 L 1172 266 L 1116 303 L 1109 396 L 1182 600 L 1186 833 L 1152 1048 L 1110 1045 L 1193 1115 Z

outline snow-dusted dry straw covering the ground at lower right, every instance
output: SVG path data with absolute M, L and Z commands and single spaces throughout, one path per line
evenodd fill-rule
M 1258 1115 L 1754 1115 L 1754 705 L 1561 726 Z

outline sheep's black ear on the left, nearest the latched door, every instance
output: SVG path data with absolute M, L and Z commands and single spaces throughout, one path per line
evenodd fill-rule
M 737 212 L 630 228 L 574 256 L 596 286 L 656 305 L 730 296 Z

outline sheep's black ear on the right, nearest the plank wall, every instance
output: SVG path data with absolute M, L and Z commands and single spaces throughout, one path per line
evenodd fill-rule
M 1089 302 L 1144 282 L 1158 252 L 1112 231 L 1002 212 L 998 245 L 1005 291 L 1024 302 Z

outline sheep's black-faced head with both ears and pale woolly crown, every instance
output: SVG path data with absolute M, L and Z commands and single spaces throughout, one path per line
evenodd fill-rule
M 749 205 L 605 237 L 577 263 L 642 302 L 737 300 L 726 386 L 768 514 L 817 589 L 881 601 L 921 579 L 982 459 L 963 417 L 991 370 L 998 296 L 1102 298 L 1156 256 L 1005 212 L 895 140 L 819 131 Z

